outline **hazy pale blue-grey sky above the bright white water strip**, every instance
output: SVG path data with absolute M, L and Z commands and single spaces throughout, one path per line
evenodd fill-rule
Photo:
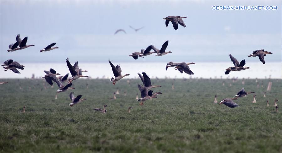
M 169 40 L 165 56 L 146 56 L 138 61 L 197 62 L 258 61 L 247 57 L 265 49 L 281 61 L 281 1 L 0 1 L 1 63 L 19 62 L 114 62 L 136 61 L 128 55 Z M 277 5 L 277 11 L 214 11 L 213 5 Z M 165 26 L 162 18 L 186 16 L 186 28 Z M 139 28 L 137 33 L 129 25 Z M 118 33 L 124 29 L 127 34 Z M 28 36 L 24 50 L 7 52 L 17 34 Z M 40 53 L 56 42 L 55 49 Z

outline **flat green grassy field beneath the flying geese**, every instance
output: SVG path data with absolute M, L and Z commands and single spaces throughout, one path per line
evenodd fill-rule
M 162 86 L 154 92 L 163 94 L 139 106 L 139 79 L 115 86 L 109 80 L 79 79 L 72 91 L 88 100 L 73 107 L 70 91 L 55 100 L 57 86 L 44 89 L 43 80 L 1 81 L 9 83 L 0 86 L 0 152 L 282 152 L 281 80 L 270 80 L 272 90 L 263 97 L 269 80 L 258 80 L 258 88 L 255 80 L 242 85 L 242 80 L 152 79 Z M 108 100 L 117 87 L 117 99 Z M 220 102 L 242 87 L 256 92 L 257 103 L 253 94 L 237 100 L 236 108 L 213 103 L 215 95 Z M 104 104 L 109 105 L 106 114 L 93 110 Z

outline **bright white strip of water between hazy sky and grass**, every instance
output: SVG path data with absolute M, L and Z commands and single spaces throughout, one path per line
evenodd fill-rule
M 130 76 L 125 78 L 138 78 L 138 72 L 145 72 L 151 78 L 262 78 L 265 77 L 275 79 L 282 78 L 282 63 L 281 62 L 267 62 L 262 64 L 258 62 L 248 62 L 245 67 L 250 67 L 251 69 L 242 70 L 242 71 L 231 71 L 229 75 L 225 75 L 225 69 L 232 66 L 232 62 L 197 62 L 194 65 L 189 65 L 190 69 L 193 71 L 194 75 L 190 76 L 188 74 L 181 74 L 178 70 L 174 70 L 172 67 L 169 67 L 168 70 L 165 70 L 166 63 L 162 62 L 127 62 L 127 63 L 117 63 L 112 61 L 114 65 L 120 64 L 122 69 L 122 74 L 129 73 Z M 19 70 L 21 74 L 15 74 L 11 70 L 4 71 L 3 68 L 0 70 L 0 78 L 31 78 L 32 74 L 35 75 L 35 78 L 39 78 L 45 75 L 44 70 L 53 68 L 60 73 L 65 75 L 69 73 L 66 63 L 20 63 L 24 65 L 24 70 Z M 74 64 L 74 62 L 72 62 Z M 104 63 L 79 63 L 79 67 L 82 70 L 87 70 L 88 72 L 83 72 L 82 75 L 88 75 L 91 78 L 105 78 L 109 79 L 114 77 L 112 73 L 111 66 L 109 62 Z

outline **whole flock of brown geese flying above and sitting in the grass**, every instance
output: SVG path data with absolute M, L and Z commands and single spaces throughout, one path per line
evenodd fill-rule
M 178 24 L 180 24 L 181 26 L 183 27 L 186 27 L 184 21 L 182 20 L 183 18 L 187 18 L 187 17 L 181 17 L 181 16 L 168 16 L 166 18 L 163 18 L 165 20 L 165 25 L 166 27 L 168 27 L 168 24 L 169 22 L 172 23 L 173 25 L 173 28 L 175 30 L 178 29 Z M 139 29 L 135 29 L 133 27 L 130 26 L 130 28 L 134 29 L 136 32 L 140 29 L 142 29 L 143 27 L 139 28 Z M 115 32 L 115 34 L 117 34 L 118 32 L 121 32 L 123 31 L 124 33 L 125 30 L 123 29 L 119 29 Z M 17 51 L 17 50 L 22 50 L 22 49 L 26 49 L 28 47 L 31 47 L 31 46 L 34 46 L 34 45 L 26 45 L 27 43 L 27 39 L 28 37 L 25 37 L 23 40 L 21 40 L 20 38 L 20 35 L 18 34 L 16 36 L 16 42 L 13 44 L 10 44 L 9 45 L 9 50 L 7 50 L 8 52 L 13 52 L 13 51 Z M 48 45 L 47 47 L 43 48 L 42 50 L 40 50 L 40 52 L 46 52 L 46 51 L 51 51 L 53 49 L 58 49 L 59 47 L 53 47 L 55 46 L 56 43 L 51 43 L 50 45 Z M 172 53 L 171 51 L 167 51 L 166 52 L 166 48 L 168 47 L 168 40 L 166 42 L 163 43 L 161 49 L 159 50 L 158 48 L 156 48 L 154 45 L 149 45 L 146 50 L 141 49 L 141 52 L 134 52 L 132 54 L 130 54 L 129 56 L 132 56 L 135 60 L 138 59 L 138 57 L 141 57 L 141 58 L 144 58 L 144 56 L 148 56 L 148 55 L 151 55 L 151 54 L 155 54 L 155 56 L 163 56 L 163 55 L 166 55 L 168 53 Z M 152 52 L 150 52 L 151 50 L 153 50 Z M 264 61 L 264 56 L 266 56 L 267 54 L 272 54 L 271 52 L 268 52 L 268 51 L 264 51 L 264 49 L 261 49 L 261 50 L 256 50 L 256 51 L 253 51 L 252 54 L 248 55 L 248 57 L 256 57 L 258 56 L 259 57 L 259 60 L 265 64 L 265 61 Z M 250 67 L 244 67 L 244 65 L 246 64 L 246 61 L 245 60 L 242 60 L 240 63 L 239 61 L 233 57 L 231 54 L 229 54 L 229 57 L 231 59 L 231 61 L 233 62 L 234 66 L 231 66 L 231 67 L 228 67 L 225 71 L 225 74 L 228 75 L 231 71 L 241 71 L 241 70 L 246 70 L 246 69 L 249 69 Z M 67 58 L 66 59 L 66 63 L 67 63 L 67 67 L 72 75 L 71 78 L 68 78 L 69 74 L 66 74 L 65 76 L 59 76 L 57 77 L 57 75 L 60 75 L 59 73 L 56 73 L 56 71 L 52 68 L 50 68 L 49 71 L 44 71 L 46 73 L 46 75 L 44 75 L 42 78 L 45 78 L 46 82 L 48 84 L 50 84 L 51 86 L 53 85 L 53 82 L 56 82 L 56 84 L 58 85 L 58 88 L 57 89 L 57 93 L 60 93 L 60 92 L 66 92 L 68 90 L 72 90 L 72 89 L 75 89 L 72 86 L 72 82 L 81 78 L 81 77 L 89 77 L 89 76 L 86 76 L 86 75 L 82 75 L 82 72 L 87 72 L 86 70 L 82 70 L 81 68 L 79 68 L 78 66 L 78 61 L 74 63 L 74 65 L 72 66 L 72 64 L 70 63 L 69 59 Z M 121 67 L 120 65 L 116 65 L 114 66 L 114 64 L 109 60 L 109 64 L 112 68 L 112 71 L 113 71 L 113 74 L 114 74 L 114 77 L 112 77 L 110 79 L 111 82 L 113 82 L 112 84 L 115 85 L 117 81 L 119 81 L 120 79 L 122 79 L 123 77 L 125 76 L 129 76 L 130 74 L 125 74 L 125 75 L 122 75 L 122 70 L 121 70 Z M 180 73 L 186 73 L 186 74 L 189 74 L 189 75 L 193 75 L 194 73 L 190 70 L 189 68 L 189 65 L 191 64 L 195 64 L 193 62 L 191 63 L 187 63 L 187 62 L 181 62 L 181 63 L 174 63 L 174 62 L 168 62 L 167 65 L 166 65 L 166 70 L 168 69 L 168 67 L 174 67 L 175 70 L 178 70 Z M 20 74 L 20 72 L 18 71 L 18 69 L 20 70 L 24 70 L 24 66 L 19 64 L 18 62 L 16 61 L 13 61 L 12 59 L 8 59 L 7 61 L 5 61 L 3 63 L 3 68 L 5 71 L 7 71 L 8 69 L 13 71 L 14 73 L 16 74 Z M 157 95 L 159 94 L 162 94 L 161 92 L 155 92 L 153 93 L 153 88 L 156 88 L 156 87 L 162 87 L 162 86 L 153 86 L 151 84 L 151 80 L 150 78 L 148 77 L 148 75 L 145 73 L 145 72 L 142 72 L 142 75 L 141 73 L 138 73 L 140 79 L 141 79 L 141 82 L 143 85 L 140 85 L 138 84 L 138 89 L 141 93 L 141 98 L 138 98 L 138 96 L 136 97 L 137 101 L 140 102 L 140 105 L 143 105 L 144 101 L 148 100 L 148 99 L 152 99 L 152 98 L 157 98 Z M 64 82 L 68 82 L 66 85 L 64 85 L 63 83 Z M 5 84 L 5 83 L 8 83 L 8 82 L 0 82 L 0 84 Z M 173 87 L 174 88 L 174 87 Z M 56 93 L 56 95 L 57 95 Z M 225 104 L 226 106 L 230 107 L 230 108 L 234 108 L 234 107 L 237 107 L 238 104 L 235 103 L 233 100 L 237 100 L 239 97 L 244 97 L 248 94 L 251 94 L 251 93 L 255 93 L 255 92 L 246 92 L 244 90 L 244 88 L 242 88 L 238 93 L 237 95 L 235 95 L 233 98 L 226 98 L 226 99 L 223 99 L 219 104 Z M 125 93 L 126 94 L 126 93 Z M 82 95 L 78 95 L 77 97 L 74 96 L 74 93 L 71 92 L 70 93 L 70 99 L 71 99 L 71 103 L 69 104 L 70 107 L 72 107 L 73 105 L 77 104 L 77 103 L 80 103 L 82 101 L 85 101 L 87 99 L 81 99 L 82 98 Z M 255 95 L 254 95 L 255 97 Z M 114 93 L 114 98 L 115 98 L 115 93 Z M 215 97 L 215 101 L 216 101 L 216 97 Z M 255 101 L 255 98 L 254 98 L 254 101 Z M 278 100 L 275 100 L 275 103 L 277 102 Z M 217 103 L 217 101 L 216 101 Z M 108 105 L 104 105 L 104 108 L 101 109 L 101 108 L 94 108 L 93 110 L 96 110 L 96 111 L 99 111 L 101 113 L 106 113 L 107 110 L 106 110 L 106 107 Z M 25 108 L 25 106 L 24 106 Z M 276 104 L 276 111 L 277 111 L 277 104 Z M 132 109 L 132 107 L 129 107 L 128 108 L 128 112 L 130 113 L 130 109 Z

